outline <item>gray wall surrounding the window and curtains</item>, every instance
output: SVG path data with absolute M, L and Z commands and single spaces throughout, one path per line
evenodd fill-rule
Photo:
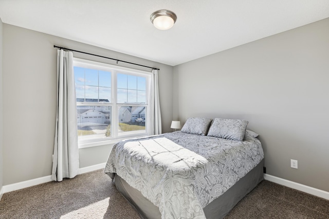
M 171 131 L 172 66 L 4 24 L 3 185 L 51 175 L 57 98 L 57 49 L 53 45 L 160 68 L 162 132 Z M 115 61 L 77 52 L 74 56 L 116 64 Z M 119 65 L 150 70 L 120 62 Z M 109 148 L 111 145 L 80 149 L 80 168 L 106 162 Z

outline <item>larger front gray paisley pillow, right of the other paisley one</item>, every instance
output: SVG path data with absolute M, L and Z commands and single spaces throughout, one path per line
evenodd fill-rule
M 242 141 L 245 137 L 247 124 L 247 120 L 215 118 L 208 136 Z

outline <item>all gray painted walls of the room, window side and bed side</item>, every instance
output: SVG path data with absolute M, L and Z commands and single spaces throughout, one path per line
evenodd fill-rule
M 268 174 L 329 191 L 329 19 L 174 68 L 1 22 L 0 39 L 0 186 L 51 174 L 59 45 L 160 68 L 163 132 L 191 116 L 247 119 Z M 80 168 L 105 162 L 110 147 L 80 149 Z

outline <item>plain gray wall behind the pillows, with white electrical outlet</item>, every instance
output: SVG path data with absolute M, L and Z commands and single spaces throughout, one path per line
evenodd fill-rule
M 246 119 L 268 174 L 329 191 L 328 69 L 325 19 L 175 66 L 173 116 Z

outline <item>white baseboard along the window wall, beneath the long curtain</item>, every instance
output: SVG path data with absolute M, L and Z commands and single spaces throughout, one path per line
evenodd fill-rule
M 83 173 L 91 172 L 94 170 L 99 170 L 99 169 L 104 168 L 105 165 L 106 165 L 106 163 L 100 163 L 98 165 L 80 168 L 78 170 L 78 174 L 83 174 Z M 3 186 L 0 191 L 0 200 L 1 200 L 2 195 L 6 192 L 12 192 L 15 190 L 24 189 L 24 188 L 31 187 L 31 186 L 36 186 L 36 185 L 43 184 L 43 183 L 50 182 L 50 181 L 52 181 L 51 175 Z

